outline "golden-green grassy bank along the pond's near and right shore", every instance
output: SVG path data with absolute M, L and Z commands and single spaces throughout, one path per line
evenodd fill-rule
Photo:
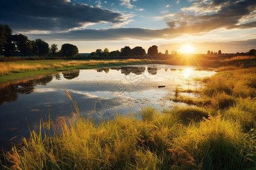
M 255 67 L 220 67 L 217 74 L 202 79 L 201 99 L 193 103 L 197 106 L 162 112 L 147 107 L 141 111 L 142 120 L 117 115 L 97 125 L 82 118 L 67 92 L 76 122 L 68 126 L 61 121 L 53 137 L 31 131 L 29 139 L 5 152 L 2 167 L 255 169 L 255 73 Z M 179 97 L 177 90 L 177 101 Z M 49 118 L 44 125 L 53 127 Z

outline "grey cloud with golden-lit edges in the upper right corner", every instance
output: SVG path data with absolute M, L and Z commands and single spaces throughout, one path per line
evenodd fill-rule
M 216 12 L 211 11 L 212 9 Z M 172 29 L 170 31 L 176 33 L 199 33 L 209 32 L 218 28 L 256 28 L 255 19 L 245 19 L 256 10 L 256 1 L 220 1 L 213 0 L 210 3 L 204 1 L 197 1 L 193 3 L 191 7 L 184 8 L 184 11 L 195 11 L 199 12 L 199 15 L 187 15 L 187 14 L 176 14 L 175 18 L 166 18 L 167 25 L 180 24 L 179 20 L 183 20 L 185 25 L 180 24 L 180 27 Z M 254 17 L 251 17 L 254 18 Z M 179 20 L 178 20 L 179 19 Z M 246 23 L 240 23 L 241 20 L 245 20 Z M 171 24 L 170 24 L 171 23 Z

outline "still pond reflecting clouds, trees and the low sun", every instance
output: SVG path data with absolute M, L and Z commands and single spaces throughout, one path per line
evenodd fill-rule
M 200 90 L 203 84 L 196 78 L 214 73 L 197 67 L 133 65 L 62 71 L 0 84 L 0 146 L 6 148 L 10 140 L 28 137 L 29 129 L 38 129 L 40 118 L 45 121 L 48 115 L 55 125 L 60 120 L 74 121 L 75 108 L 65 90 L 85 118 L 96 122 L 116 114 L 140 118 L 141 108 L 148 105 L 159 111 L 175 107 L 177 103 L 168 97 L 175 95 L 176 87 Z

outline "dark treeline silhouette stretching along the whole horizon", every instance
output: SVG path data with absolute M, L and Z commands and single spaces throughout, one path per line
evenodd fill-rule
M 152 45 L 148 48 L 147 54 L 141 46 L 135 46 L 133 49 L 130 46 L 125 46 L 120 50 L 113 50 L 109 52 L 108 48 L 96 49 L 95 52 L 91 52 L 89 55 L 79 54 L 79 49 L 77 46 L 72 44 L 63 44 L 61 49 L 57 48 L 56 44 L 49 46 L 47 42 L 42 39 L 28 40 L 26 35 L 13 35 L 12 29 L 9 25 L 0 24 L 0 55 L 6 57 L 10 56 L 39 56 L 40 58 L 49 57 L 76 57 L 77 59 L 104 59 L 104 58 L 142 58 L 143 56 L 152 56 L 153 58 L 170 58 L 172 56 L 177 56 L 180 53 L 177 50 L 172 50 L 169 54 L 169 50 L 166 49 L 165 53 L 162 54 L 158 51 L 158 46 Z M 207 54 L 212 55 L 227 55 L 218 50 L 218 52 L 213 52 L 208 50 Z M 182 55 L 182 54 L 181 54 Z M 230 55 L 230 54 L 228 54 Z M 250 49 L 246 53 L 236 53 L 232 55 L 249 55 L 256 56 L 255 49 Z M 229 56 L 227 56 L 229 57 Z

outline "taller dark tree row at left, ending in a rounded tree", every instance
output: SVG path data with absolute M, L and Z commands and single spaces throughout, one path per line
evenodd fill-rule
M 56 44 L 49 44 L 42 40 L 28 40 L 26 35 L 21 33 L 13 35 L 12 29 L 9 25 L 0 24 L 0 54 L 6 57 L 14 56 L 14 53 L 20 53 L 21 56 L 39 56 L 46 57 L 51 55 L 53 57 L 75 57 L 79 53 L 77 46 L 72 44 L 63 44 L 58 50 Z

